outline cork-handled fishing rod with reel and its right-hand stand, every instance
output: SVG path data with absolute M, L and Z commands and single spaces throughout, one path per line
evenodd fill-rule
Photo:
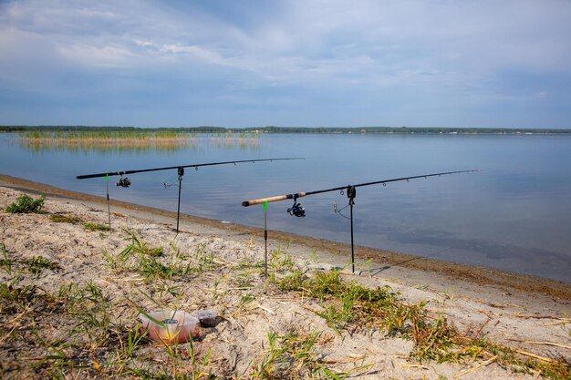
M 376 180 L 376 181 L 372 181 L 372 182 L 358 183 L 357 185 L 339 186 L 337 188 L 326 189 L 326 190 L 296 192 L 294 194 L 277 195 L 275 197 L 260 198 L 257 200 L 244 200 L 242 202 L 242 205 L 244 207 L 248 207 L 248 206 L 254 206 L 256 204 L 264 203 L 265 207 L 267 207 L 267 203 L 269 203 L 269 202 L 276 202 L 276 201 L 280 201 L 280 200 L 294 200 L 294 205 L 292 207 L 288 208 L 287 212 L 292 216 L 296 216 L 297 218 L 303 218 L 306 216 L 306 209 L 300 203 L 297 202 L 298 198 L 303 198 L 303 197 L 306 197 L 309 195 L 316 195 L 316 194 L 321 194 L 321 193 L 330 192 L 330 191 L 339 191 L 340 190 L 341 194 L 343 194 L 344 192 L 347 192 L 348 206 L 349 206 L 349 210 L 350 210 L 349 219 L 351 221 L 351 264 L 352 264 L 353 272 L 355 272 L 355 249 L 354 249 L 354 243 L 353 243 L 353 206 L 355 205 L 355 198 L 357 196 L 357 188 L 360 188 L 363 186 L 370 186 L 370 185 L 379 185 L 379 184 L 382 184 L 383 186 L 387 186 L 387 183 L 398 182 L 401 180 L 406 180 L 408 182 L 409 180 L 416 180 L 416 179 L 420 179 L 420 178 L 426 179 L 429 177 L 441 177 L 443 175 L 452 175 L 452 174 L 457 174 L 457 173 L 469 173 L 469 172 L 473 172 L 473 171 L 480 171 L 480 170 L 444 171 L 441 173 L 422 174 L 420 176 L 401 177 L 401 178 L 395 178 L 395 179 L 390 179 L 390 180 Z M 337 207 L 334 208 L 334 211 L 336 213 L 337 212 L 340 213 L 340 211 L 337 211 Z

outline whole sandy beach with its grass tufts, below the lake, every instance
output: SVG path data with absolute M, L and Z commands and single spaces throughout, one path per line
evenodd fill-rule
M 277 231 L 266 279 L 261 229 L 184 215 L 176 234 L 174 213 L 111 201 L 105 231 L 99 197 L 0 186 L 2 378 L 569 378 L 564 282 L 365 247 L 351 273 L 348 244 Z M 5 211 L 25 193 L 45 212 Z M 331 273 L 342 297 L 316 293 Z M 346 284 L 406 313 L 388 326 Z M 158 309 L 219 318 L 192 346 L 133 343 Z

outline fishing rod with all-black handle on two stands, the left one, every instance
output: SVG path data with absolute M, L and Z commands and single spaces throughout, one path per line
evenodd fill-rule
M 86 179 L 92 179 L 92 178 L 105 177 L 105 182 L 107 183 L 109 180 L 109 177 L 120 176 L 119 180 L 117 181 L 117 186 L 120 186 L 122 188 L 129 188 L 131 185 L 131 181 L 127 177 L 123 178 L 124 175 L 135 174 L 135 173 L 143 173 L 143 172 L 148 172 L 148 171 L 177 169 L 177 174 L 179 176 L 179 201 L 178 201 L 177 211 L 176 211 L 176 232 L 179 233 L 179 221 L 181 218 L 182 176 L 184 175 L 184 169 L 185 168 L 194 168 L 194 169 L 198 170 L 198 168 L 201 168 L 204 166 L 217 166 L 217 165 L 229 165 L 229 164 L 236 165 L 238 163 L 243 163 L 243 162 L 252 162 L 252 163 L 262 162 L 262 161 L 272 161 L 273 162 L 273 161 L 284 161 L 284 160 L 291 160 L 291 159 L 305 159 L 305 158 L 287 157 L 287 158 L 280 158 L 280 159 L 238 159 L 238 160 L 234 160 L 234 161 L 207 162 L 207 163 L 201 163 L 201 164 L 168 166 L 168 167 L 163 167 L 163 168 L 136 169 L 136 170 L 123 170 L 123 171 L 107 171 L 104 173 L 80 175 L 80 176 L 77 176 L 76 179 L 86 180 Z M 166 187 L 166 185 L 165 185 L 165 187 Z M 110 217 L 110 212 L 109 212 L 109 185 L 107 185 L 107 206 L 108 206 L 108 213 L 109 213 L 109 229 L 110 229 L 111 228 L 111 217 Z

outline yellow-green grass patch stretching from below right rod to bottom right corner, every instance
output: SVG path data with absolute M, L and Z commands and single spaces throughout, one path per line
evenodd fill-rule
M 512 348 L 493 343 L 483 333 L 483 325 L 461 332 L 443 315 L 431 315 L 426 303 L 404 303 L 400 294 L 388 286 L 369 289 L 357 282 L 343 281 L 338 270 L 316 272 L 313 276 L 296 270 L 275 280 L 275 284 L 282 291 L 302 293 L 320 302 L 321 310 L 314 313 L 338 334 L 366 328 L 410 339 L 414 343 L 410 355 L 420 362 L 482 359 L 528 373 L 540 371 L 554 379 L 569 375 L 565 361 L 524 359 L 515 355 Z

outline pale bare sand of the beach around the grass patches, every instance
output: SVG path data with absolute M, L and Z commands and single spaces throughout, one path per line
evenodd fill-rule
M 264 268 L 259 266 L 264 261 L 263 231 L 259 229 L 185 216 L 177 235 L 171 212 L 114 201 L 112 230 L 88 231 L 83 223 L 50 218 L 66 215 L 106 224 L 104 200 L 5 176 L 0 185 L 4 186 L 0 187 L 0 241 L 6 255 L 28 262 L 41 255 L 53 263 L 39 275 L 22 270 L 24 277 L 17 282 L 14 272 L 0 271 L 2 282 L 33 283 L 49 294 L 70 283 L 78 289 L 95 284 L 108 297 L 113 336 L 125 336 L 135 329 L 138 307 L 188 313 L 213 310 L 223 319 L 213 328 L 204 328 L 202 339 L 193 348 L 201 365 L 208 359 L 201 368 L 219 378 L 251 378 L 256 372 L 260 377 L 259 369 L 269 353 L 268 333 L 281 337 L 318 334 L 313 350 L 319 363 L 359 379 L 533 379 L 545 375 L 521 372 L 517 366 L 498 365 L 494 360 L 487 365 L 484 359 L 419 362 L 410 355 L 413 343 L 406 337 L 356 328 L 337 332 L 315 313 L 324 310 L 324 303 L 300 293 L 281 292 L 265 281 Z M 47 194 L 46 213 L 5 212 L 19 195 L 36 197 L 38 192 Z M 120 270 L 113 259 L 132 242 L 130 233 L 147 247 L 161 247 L 161 262 L 171 266 L 187 263 L 192 272 L 149 281 L 141 272 Z M 445 316 L 460 331 L 475 326 L 497 344 L 557 360 L 567 368 L 571 363 L 571 287 L 566 283 L 364 247 L 358 248 L 358 271 L 353 274 L 347 269 L 347 244 L 275 231 L 270 231 L 269 251 L 281 252 L 275 258 L 281 263 L 270 269 L 278 278 L 293 266 L 309 275 L 345 267 L 344 280 L 371 288 L 387 285 L 400 293 L 403 303 L 426 302 L 434 319 Z M 67 378 L 137 377 L 118 369 L 120 338 L 120 342 L 107 338 L 98 344 L 93 337 L 74 333 L 77 315 L 74 319 L 67 311 L 54 309 L 47 315 L 35 309 L 39 316 L 30 322 L 26 320 L 28 312 L 7 306 L 0 310 L 3 378 L 40 378 L 56 371 L 53 361 L 42 361 L 53 354 L 53 348 L 28 342 L 26 328 L 30 325 L 40 327 L 37 334 L 43 342 L 67 342 L 61 351 L 69 361 L 75 361 L 75 365 L 59 369 Z M 70 343 L 71 337 L 75 340 Z M 136 354 L 125 359 L 125 367 L 143 368 L 155 375 L 159 371 L 167 377 L 189 374 L 192 363 L 184 360 L 188 348 L 177 350 L 175 360 L 161 344 L 143 339 Z M 44 365 L 36 366 L 35 360 Z

